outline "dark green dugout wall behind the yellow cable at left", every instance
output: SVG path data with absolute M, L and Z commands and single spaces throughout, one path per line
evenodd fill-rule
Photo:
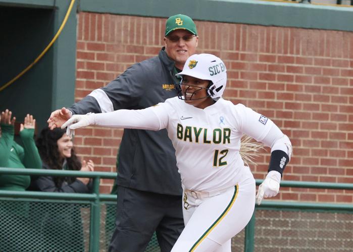
M 4 34 L 0 40 L 0 87 L 31 64 L 49 44 L 70 3 L 66 0 L 22 2 L 0 1 Z M 0 91 L 0 110 L 11 109 L 17 121 L 32 113 L 38 130 L 42 129 L 52 110 L 74 101 L 75 61 L 76 6 L 51 49 L 31 70 Z

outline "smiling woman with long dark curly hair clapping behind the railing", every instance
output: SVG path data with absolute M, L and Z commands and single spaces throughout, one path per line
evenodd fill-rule
M 65 130 L 43 129 L 36 141 L 43 169 L 93 171 L 94 163 L 80 162 L 72 138 Z M 89 178 L 39 176 L 32 177 L 29 190 L 61 193 L 91 193 Z M 51 203 L 38 205 L 41 214 L 42 244 L 45 250 L 84 251 L 81 210 L 86 204 Z

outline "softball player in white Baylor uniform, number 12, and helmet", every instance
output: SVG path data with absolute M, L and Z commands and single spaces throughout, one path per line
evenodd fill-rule
M 231 251 L 231 238 L 250 220 L 256 200 L 255 179 L 239 154 L 241 137 L 271 147 L 258 204 L 277 195 L 291 143 L 266 116 L 221 98 L 227 74 L 215 55 L 190 56 L 177 75 L 182 77 L 178 97 L 141 110 L 74 115 L 62 128 L 68 127 L 68 134 L 87 125 L 167 129 L 184 191 L 185 228 L 172 251 Z

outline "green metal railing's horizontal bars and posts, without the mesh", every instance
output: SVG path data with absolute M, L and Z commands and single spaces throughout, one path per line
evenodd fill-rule
M 100 214 L 102 202 L 116 202 L 116 195 L 107 195 L 99 193 L 99 180 L 101 178 L 115 179 L 117 173 L 114 172 L 81 172 L 67 170 L 41 170 L 41 169 L 13 169 L 0 168 L 0 174 L 16 175 L 46 175 L 46 176 L 73 176 L 89 177 L 93 179 L 92 194 L 73 194 L 73 193 L 43 193 L 43 192 L 17 192 L 0 191 L 0 198 L 11 200 L 26 199 L 32 200 L 65 200 L 65 201 L 85 201 L 90 204 L 90 224 L 89 224 L 89 251 L 99 251 L 99 231 Z M 259 185 L 263 180 L 257 179 Z M 301 187 L 301 188 L 321 188 L 336 190 L 353 190 L 353 184 L 349 183 L 327 183 L 327 182 L 301 182 L 301 181 L 281 181 L 281 187 Z M 258 210 L 315 210 L 315 211 L 333 211 L 353 213 L 353 204 L 330 204 L 330 203 L 308 203 L 308 202 L 284 202 L 284 201 L 263 201 L 261 206 L 256 206 Z M 255 212 L 250 222 L 245 228 L 244 251 L 252 252 L 255 249 Z M 353 239 L 353 238 L 352 238 Z

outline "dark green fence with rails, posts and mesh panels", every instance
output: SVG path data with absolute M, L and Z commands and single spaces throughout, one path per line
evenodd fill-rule
M 99 194 L 100 178 L 116 173 L 0 168 L 0 174 L 90 177 L 92 194 L 0 191 L 4 251 L 107 251 L 116 196 Z M 262 180 L 257 180 L 260 184 Z M 353 190 L 353 184 L 282 181 L 281 187 Z M 263 201 L 232 251 L 351 251 L 353 205 Z M 3 239 L 3 240 L 2 240 Z M 6 247 L 6 239 L 18 239 Z M 73 247 L 75 246 L 75 247 Z M 156 235 L 146 252 L 160 251 Z

